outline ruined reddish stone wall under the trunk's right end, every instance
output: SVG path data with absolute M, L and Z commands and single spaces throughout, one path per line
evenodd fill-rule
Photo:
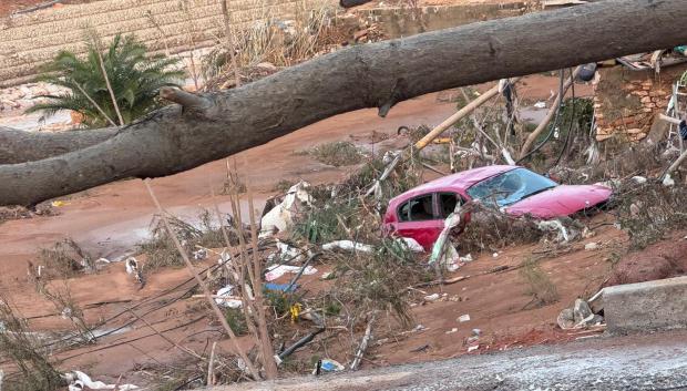
M 595 85 L 596 140 L 638 142 L 647 136 L 657 113 L 665 113 L 673 83 L 686 66 L 629 71 L 622 66 L 599 70 Z

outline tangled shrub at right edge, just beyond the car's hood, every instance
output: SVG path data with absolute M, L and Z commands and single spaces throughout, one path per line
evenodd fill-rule
M 622 183 L 614 189 L 614 203 L 621 228 L 630 239 L 630 248 L 642 249 L 665 234 L 687 224 L 687 188 L 658 183 Z

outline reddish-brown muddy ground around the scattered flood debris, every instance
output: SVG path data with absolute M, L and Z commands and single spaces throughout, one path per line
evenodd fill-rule
M 525 78 L 519 94 L 523 101 L 546 101 L 556 88 L 556 78 L 535 75 Z M 576 91 L 577 94 L 591 94 L 588 86 L 580 86 Z M 328 166 L 297 152 L 338 140 L 352 141 L 376 152 L 400 147 L 408 141 L 396 136 L 398 126 L 434 125 L 454 112 L 455 103 L 447 101 L 447 95 L 429 94 L 403 102 L 386 120 L 379 119 L 375 110 L 339 115 L 233 156 L 232 162 L 252 187 L 257 207 L 262 209 L 260 203 L 276 193 L 275 185 L 281 179 L 331 183 L 346 178 L 355 168 Z M 532 114 L 541 115 L 541 112 Z M 380 134 L 388 137 L 380 137 Z M 153 188 L 170 212 L 193 220 L 199 208 L 211 205 L 211 184 L 219 186 L 225 175 L 226 163 L 219 161 L 155 179 Z M 223 212 L 228 212 L 228 198 L 218 196 L 218 200 Z M 101 186 L 60 202 L 62 206 L 55 207 L 57 216 L 38 216 L 0 225 L 0 289 L 39 332 L 64 332 L 71 329 L 71 325 L 28 282 L 28 261 L 35 260 L 41 248 L 65 237 L 74 239 L 94 257 L 121 259 L 147 237 L 154 213 L 143 183 L 133 179 Z M 469 278 L 416 294 L 410 329 L 401 329 L 390 313 L 381 317 L 375 331 L 378 343 L 369 350 L 363 368 L 448 359 L 468 354 L 470 347 L 473 347 L 470 354 L 481 354 L 598 333 L 597 330 L 563 331 L 555 325 L 555 319 L 576 298 L 588 297 L 612 278 L 617 278 L 617 272 L 614 275 L 613 271 L 615 265 L 627 269 L 634 267 L 633 256 L 621 259 L 627 247 L 626 235 L 609 222 L 612 216 L 595 216 L 587 222 L 594 227 L 595 235 L 566 247 L 552 249 L 536 244 L 472 254 L 475 258 L 472 263 L 449 276 Z M 685 265 L 683 237 L 676 234 L 649 250 L 660 256 L 659 251 L 666 249 L 663 255 L 666 261 L 678 261 L 676 259 L 681 256 L 680 265 Z M 597 244 L 597 249 L 585 250 L 585 244 L 591 241 Z M 214 265 L 216 258 L 211 256 L 201 261 L 198 268 Z M 539 259 L 541 268 L 555 285 L 558 299 L 554 303 L 543 307 L 532 303 L 532 295 L 520 271 L 521 264 L 529 258 Z M 140 260 L 145 261 L 145 258 L 140 257 Z M 328 287 L 327 282 L 320 281 L 322 274 L 329 270 L 328 265 L 315 266 L 318 272 L 300 281 L 301 288 L 311 292 Z M 502 271 L 492 272 L 494 269 Z M 90 323 L 106 320 L 106 326 L 96 330 L 96 335 L 105 335 L 98 343 L 57 354 L 63 370 L 79 369 L 111 382 L 122 375 L 131 383 L 158 383 L 164 380 L 162 373 L 170 368 L 195 360 L 160 338 L 158 331 L 201 354 L 206 354 L 211 342 L 221 336 L 221 326 L 208 317 L 201 300 L 182 299 L 193 288 L 185 269 L 158 270 L 140 289 L 125 274 L 122 264 L 111 264 L 98 274 L 52 281 L 51 287 L 58 289 L 65 284 L 73 300 L 84 309 L 85 319 Z M 441 299 L 423 299 L 434 292 Z M 458 318 L 464 315 L 469 315 L 470 320 L 459 321 Z M 136 317 L 144 317 L 148 325 L 137 321 Z M 285 333 L 289 332 L 293 341 L 310 328 L 307 323 L 294 325 L 293 330 L 285 330 Z M 474 329 L 480 329 L 480 338 L 469 341 Z M 329 358 L 346 363 L 352 358 L 358 341 L 359 333 L 328 330 L 318 340 L 317 348 L 322 348 Z M 246 337 L 242 343 L 249 344 L 250 341 Z M 219 348 L 224 352 L 230 351 L 226 341 L 221 342 Z M 314 354 L 309 348 L 299 351 L 287 373 L 309 372 L 307 363 Z

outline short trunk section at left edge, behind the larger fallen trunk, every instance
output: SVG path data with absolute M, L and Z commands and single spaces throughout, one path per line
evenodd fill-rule
M 0 126 L 0 165 L 42 161 L 83 150 L 116 134 L 116 127 L 69 132 L 24 132 Z

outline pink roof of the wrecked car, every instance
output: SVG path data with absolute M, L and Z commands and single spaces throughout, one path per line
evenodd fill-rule
M 409 197 L 424 194 L 433 189 L 451 187 L 464 191 L 476 183 L 515 168 L 520 168 L 520 166 L 493 165 L 466 169 L 460 173 L 442 176 L 418 187 L 413 187 L 410 191 L 393 197 L 389 204 L 392 205 L 400 200 L 404 200 Z

